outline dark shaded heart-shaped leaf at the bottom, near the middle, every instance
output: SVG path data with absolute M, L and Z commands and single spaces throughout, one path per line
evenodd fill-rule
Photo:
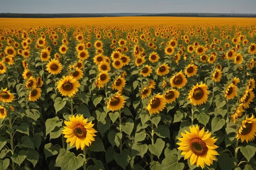
M 113 157 L 117 164 L 125 170 L 131 160 L 131 153 L 125 148 L 120 154 L 115 152 Z

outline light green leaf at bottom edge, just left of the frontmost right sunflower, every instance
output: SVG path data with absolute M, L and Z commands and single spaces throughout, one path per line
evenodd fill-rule
M 184 163 L 178 163 L 177 155 L 168 155 L 161 164 L 161 170 L 183 170 Z

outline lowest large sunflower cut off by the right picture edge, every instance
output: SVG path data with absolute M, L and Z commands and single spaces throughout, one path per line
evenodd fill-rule
M 253 141 L 256 136 L 256 118 L 254 115 L 242 121 L 240 128 L 238 129 L 238 133 L 236 135 L 236 139 L 241 139 L 241 141 Z

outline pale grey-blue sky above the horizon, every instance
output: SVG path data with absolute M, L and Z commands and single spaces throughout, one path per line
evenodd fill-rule
M 256 13 L 256 0 L 0 0 L 0 13 Z

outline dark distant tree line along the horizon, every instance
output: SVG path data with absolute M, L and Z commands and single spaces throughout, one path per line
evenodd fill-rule
M 172 16 L 172 17 L 245 17 L 256 18 L 247 13 L 0 13 L 0 18 L 82 18 L 114 16 Z

